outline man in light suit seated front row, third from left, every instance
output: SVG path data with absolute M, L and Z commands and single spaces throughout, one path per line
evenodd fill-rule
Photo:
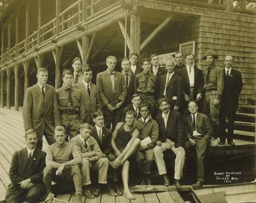
M 91 133 L 92 126 L 90 124 L 82 124 L 80 125 L 80 134 L 70 141 L 75 143 L 81 155 L 82 189 L 85 192 L 85 197 L 90 199 L 100 196 L 104 185 L 107 183 L 109 167 L 109 159 L 103 158 L 105 154 L 100 150 L 96 139 L 90 136 Z M 94 195 L 88 189 L 88 185 L 91 184 L 90 168 L 93 171 L 98 171 L 98 187 Z

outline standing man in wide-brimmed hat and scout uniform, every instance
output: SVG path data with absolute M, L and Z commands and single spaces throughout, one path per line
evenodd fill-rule
M 224 74 L 220 67 L 215 64 L 218 59 L 213 49 L 209 49 L 203 56 L 208 67 L 204 70 L 204 91 L 203 113 L 209 115 L 213 122 L 213 141 L 212 146 L 217 146 L 217 138 L 220 133 L 220 101 L 224 88 Z

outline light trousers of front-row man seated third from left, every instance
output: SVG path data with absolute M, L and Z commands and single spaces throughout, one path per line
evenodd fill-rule
M 108 168 L 109 168 L 109 159 L 107 158 L 100 158 L 96 162 L 90 162 L 87 159 L 82 159 L 82 163 L 81 163 L 82 185 L 91 184 L 90 169 L 92 169 L 92 171 L 98 171 L 98 183 L 106 184 Z

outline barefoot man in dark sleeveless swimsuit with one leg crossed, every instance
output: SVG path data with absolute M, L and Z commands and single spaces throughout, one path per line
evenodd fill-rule
M 114 162 L 110 162 L 113 168 L 122 167 L 123 179 L 123 196 L 129 200 L 134 200 L 135 196 L 131 194 L 129 182 L 129 158 L 138 151 L 141 140 L 138 130 L 134 127 L 136 113 L 134 111 L 127 111 L 125 122 L 118 122 L 112 135 L 112 147 L 117 158 Z M 117 172 L 117 171 L 115 171 Z M 114 179 L 118 181 L 117 176 Z M 117 185 L 117 184 L 115 184 Z

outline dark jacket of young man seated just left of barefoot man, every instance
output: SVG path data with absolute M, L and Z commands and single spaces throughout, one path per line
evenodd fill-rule
M 100 142 L 100 139 L 98 138 L 98 133 L 95 125 L 92 128 L 92 134 L 90 135 L 96 139 L 98 142 L 98 145 L 100 146 L 101 151 L 108 155 L 112 152 L 112 146 L 111 146 L 111 138 L 112 134 L 110 133 L 110 130 L 108 128 L 103 127 L 102 128 L 102 142 Z

